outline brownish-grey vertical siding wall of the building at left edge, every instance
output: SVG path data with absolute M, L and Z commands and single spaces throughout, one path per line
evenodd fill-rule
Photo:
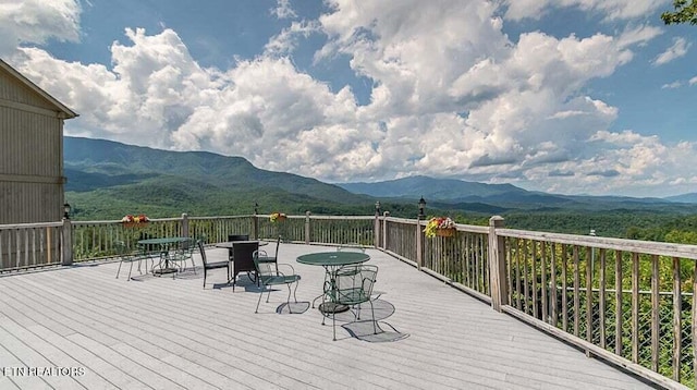
M 63 120 L 0 71 L 0 224 L 62 217 Z

